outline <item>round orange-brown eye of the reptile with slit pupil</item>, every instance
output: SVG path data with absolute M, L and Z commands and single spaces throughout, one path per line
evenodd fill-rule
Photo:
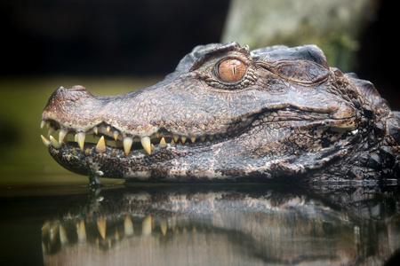
M 218 75 L 222 82 L 240 81 L 246 74 L 247 66 L 238 59 L 226 59 L 218 66 Z

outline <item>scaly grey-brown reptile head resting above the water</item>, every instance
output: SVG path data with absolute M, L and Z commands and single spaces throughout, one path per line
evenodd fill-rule
M 164 81 L 121 96 L 60 87 L 42 119 L 51 131 L 80 133 L 82 144 L 90 134 L 109 139 L 105 148 L 45 141 L 78 174 L 347 181 L 399 178 L 399 116 L 371 82 L 330 67 L 315 45 L 228 43 L 198 46 Z

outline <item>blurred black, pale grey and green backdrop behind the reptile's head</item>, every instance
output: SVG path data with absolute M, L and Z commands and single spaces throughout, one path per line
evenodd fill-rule
M 53 90 L 121 94 L 171 73 L 198 44 L 320 46 L 331 66 L 372 81 L 400 110 L 396 2 L 380 0 L 2 0 L 0 184 L 86 181 L 40 140 Z M 57 176 L 57 177 L 54 177 Z M 64 178 L 65 177 L 65 178 Z

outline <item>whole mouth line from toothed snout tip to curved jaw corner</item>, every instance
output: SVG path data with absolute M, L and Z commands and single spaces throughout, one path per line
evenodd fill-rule
M 67 149 L 69 153 L 94 155 L 94 153 L 106 153 L 111 156 L 145 156 L 154 151 L 160 151 L 171 147 L 201 147 L 227 141 L 237 137 L 249 127 L 257 127 L 260 124 L 280 123 L 289 121 L 321 121 L 329 119 L 329 113 L 300 112 L 291 108 L 266 110 L 262 113 L 252 114 L 228 127 L 228 131 L 216 134 L 204 134 L 190 136 L 159 129 L 155 133 L 144 135 L 133 135 L 117 129 L 116 126 L 103 121 L 91 129 L 67 129 L 61 122 L 55 120 L 44 120 L 41 129 L 47 128 L 47 139 L 43 135 L 42 141 L 46 146 L 52 148 Z M 60 130 L 59 130 L 60 129 Z M 54 137 L 54 133 L 58 137 Z

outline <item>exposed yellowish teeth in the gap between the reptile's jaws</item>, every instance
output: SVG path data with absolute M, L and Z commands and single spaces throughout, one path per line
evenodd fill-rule
M 150 136 L 132 136 L 124 133 L 106 122 L 87 130 L 86 132 L 76 129 L 63 129 L 57 121 L 42 121 L 41 128 L 48 129 L 47 136 L 41 135 L 44 145 L 51 145 L 59 150 L 68 149 L 73 154 L 84 153 L 91 155 L 96 153 L 107 153 L 111 156 L 126 157 L 129 155 L 151 155 L 156 149 L 178 146 L 211 145 L 233 135 L 239 134 L 240 130 L 234 132 L 188 137 L 185 135 L 168 132 L 164 129 Z M 59 130 L 60 129 L 60 130 Z M 58 137 L 54 137 L 57 136 Z

